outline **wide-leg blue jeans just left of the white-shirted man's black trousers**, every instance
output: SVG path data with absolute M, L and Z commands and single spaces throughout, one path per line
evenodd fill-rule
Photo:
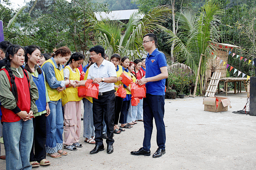
M 83 99 L 84 103 L 84 137 L 90 139 L 92 136 L 95 136 L 94 126 L 93 126 L 93 114 L 92 114 L 92 103 Z

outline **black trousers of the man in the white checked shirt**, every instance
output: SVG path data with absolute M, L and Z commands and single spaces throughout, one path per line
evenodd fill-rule
M 95 127 L 95 141 L 96 145 L 102 145 L 102 132 L 103 132 L 103 117 L 107 125 L 108 139 L 106 143 L 112 145 L 115 140 L 114 134 L 114 119 L 115 119 L 115 94 L 105 94 L 98 96 L 98 99 L 92 99 L 92 112 L 93 112 L 93 125 Z

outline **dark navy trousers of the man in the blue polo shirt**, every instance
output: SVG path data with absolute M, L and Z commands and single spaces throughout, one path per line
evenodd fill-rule
M 144 122 L 144 140 L 143 149 L 150 149 L 150 140 L 153 130 L 153 118 L 156 123 L 156 144 L 159 148 L 165 149 L 165 126 L 164 126 L 164 96 L 146 94 L 143 99 L 143 122 Z

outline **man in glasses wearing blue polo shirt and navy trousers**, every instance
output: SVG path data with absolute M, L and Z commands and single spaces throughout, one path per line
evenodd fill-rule
M 144 140 L 139 151 L 132 151 L 132 155 L 150 156 L 150 140 L 153 130 L 153 118 L 156 123 L 156 143 L 158 149 L 153 158 L 165 154 L 165 126 L 164 126 L 164 89 L 165 78 L 168 77 L 166 57 L 156 48 L 157 38 L 153 33 L 144 35 L 142 45 L 148 55 L 146 58 L 146 75 L 137 80 L 137 84 L 146 84 L 147 94 L 143 99 Z

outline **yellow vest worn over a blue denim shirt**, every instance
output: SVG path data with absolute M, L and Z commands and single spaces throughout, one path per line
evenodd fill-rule
M 44 65 L 45 63 L 47 63 L 47 62 L 49 62 L 49 63 L 51 63 L 51 64 L 53 65 L 56 79 L 57 79 L 58 81 L 64 80 L 63 69 L 61 69 L 61 70 L 56 69 L 56 68 L 55 68 L 55 65 L 54 65 L 54 63 L 53 63 L 53 61 L 52 61 L 52 59 L 49 59 L 49 60 L 45 61 L 45 62 L 43 63 L 43 65 Z M 43 65 L 42 65 L 41 67 L 43 67 Z M 50 98 L 51 101 L 58 101 L 58 100 L 61 99 L 61 97 L 62 97 L 62 92 L 63 92 L 63 91 L 62 91 L 62 92 L 58 92 L 56 89 L 52 89 L 52 88 L 49 86 L 49 84 L 48 84 L 47 81 L 46 81 L 46 88 L 47 88 L 47 92 L 48 92 L 48 95 L 49 95 L 49 98 Z

